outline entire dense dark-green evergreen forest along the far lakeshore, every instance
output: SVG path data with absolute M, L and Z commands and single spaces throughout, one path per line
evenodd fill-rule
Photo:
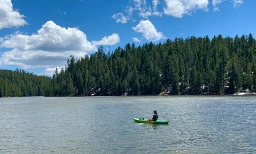
M 8 89 L 8 90 L 7 90 Z M 199 95 L 256 91 L 256 40 L 251 34 L 167 39 L 127 44 L 112 53 L 101 46 L 72 55 L 52 78 L 0 72 L 3 96 Z

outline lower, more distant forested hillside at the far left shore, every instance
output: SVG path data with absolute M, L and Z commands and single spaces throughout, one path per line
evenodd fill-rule
M 0 97 L 49 96 L 51 81 L 24 70 L 0 70 Z

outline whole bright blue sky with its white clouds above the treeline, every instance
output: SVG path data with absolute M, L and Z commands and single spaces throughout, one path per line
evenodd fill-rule
M 256 0 L 0 0 L 0 69 L 50 75 L 70 54 L 133 41 L 256 36 Z M 69 28 L 70 27 L 70 28 Z

